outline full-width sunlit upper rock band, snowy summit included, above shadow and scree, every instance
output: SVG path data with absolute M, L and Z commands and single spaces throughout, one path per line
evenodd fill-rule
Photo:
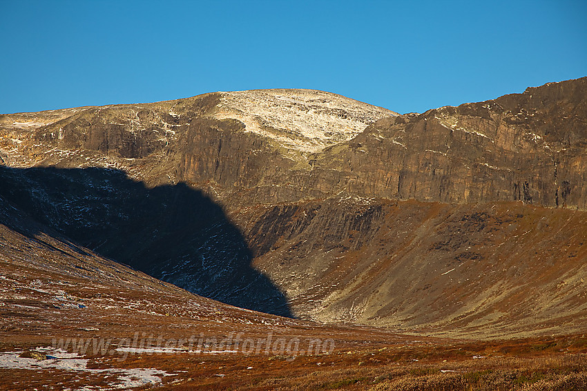
M 2 153 L 10 166 L 86 164 L 133 172 L 146 161 L 155 167 L 139 168 L 133 177 L 210 186 L 227 208 L 346 191 L 584 209 L 586 85 L 587 79 L 550 83 L 401 116 L 312 90 L 76 109 L 44 126 L 55 114 L 12 114 L 1 118 Z M 99 153 L 87 156 L 93 152 Z M 83 153 L 87 162 L 79 159 Z

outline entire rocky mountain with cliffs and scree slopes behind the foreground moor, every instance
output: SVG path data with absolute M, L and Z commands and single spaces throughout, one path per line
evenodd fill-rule
M 579 228 L 587 217 L 586 102 L 584 78 L 423 114 L 326 92 L 256 90 L 0 116 L 5 166 L 115 169 L 142 182 L 140 199 L 165 194 L 164 186 L 202 192 L 220 214 L 187 213 L 192 222 L 181 226 L 195 232 L 189 238 L 177 237 L 173 221 L 155 224 L 127 206 L 121 213 L 131 221 L 104 229 L 110 218 L 88 199 L 122 207 L 101 193 L 102 179 L 84 179 L 88 186 L 57 209 L 51 205 L 63 205 L 67 186 L 39 192 L 52 181 L 27 170 L 4 170 L 0 190 L 89 248 L 238 305 L 255 300 L 257 280 L 244 278 L 235 290 L 231 279 L 208 286 L 202 276 L 246 276 L 252 261 L 271 280 L 266 292 L 276 294 L 264 296 L 263 310 L 282 308 L 282 294 L 291 313 L 320 321 L 493 334 L 578 330 L 587 310 L 587 238 Z M 153 208 L 161 215 L 151 219 L 167 221 L 167 209 Z M 64 224 L 76 219 L 104 226 Z M 137 230 L 132 252 L 120 241 L 128 227 Z M 231 229 L 238 240 L 222 239 Z M 210 251 L 206 241 L 227 246 Z M 245 261 L 224 268 L 235 251 Z

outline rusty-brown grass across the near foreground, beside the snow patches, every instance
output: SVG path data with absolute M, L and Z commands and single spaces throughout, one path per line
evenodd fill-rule
M 363 348 L 349 343 L 332 354 L 300 356 L 293 361 L 267 354 L 134 354 L 122 362 L 115 357 L 93 357 L 89 366 L 157 368 L 175 374 L 165 377 L 157 390 L 572 391 L 587 390 L 583 343 L 582 336 L 554 341 L 398 341 L 391 345 L 363 343 Z M 485 358 L 473 358 L 481 354 Z M 0 378 L 3 390 L 108 383 L 102 377 L 71 372 L 31 376 L 27 371 L 12 371 Z

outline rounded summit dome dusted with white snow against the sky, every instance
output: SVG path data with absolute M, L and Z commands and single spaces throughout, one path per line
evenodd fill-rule
M 222 92 L 217 119 L 238 119 L 248 132 L 285 148 L 318 152 L 348 141 L 369 124 L 396 112 L 318 90 Z

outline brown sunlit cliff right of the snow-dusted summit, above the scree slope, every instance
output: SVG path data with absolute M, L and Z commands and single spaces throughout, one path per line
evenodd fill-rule
M 372 197 L 585 209 L 586 94 L 579 79 L 382 119 L 316 166 Z

